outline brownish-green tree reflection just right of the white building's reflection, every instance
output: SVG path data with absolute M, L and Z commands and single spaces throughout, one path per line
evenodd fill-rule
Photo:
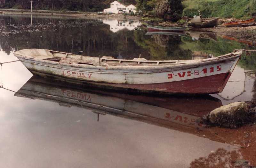
M 151 60 L 191 59 L 192 51 L 180 48 L 180 36 L 145 34 L 145 31 L 136 31 L 135 41 L 148 50 Z

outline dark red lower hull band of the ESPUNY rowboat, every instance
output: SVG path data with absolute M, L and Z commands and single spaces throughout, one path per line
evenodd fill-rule
M 40 72 L 31 71 L 32 74 L 37 74 L 43 77 L 53 77 L 58 79 L 57 76 L 52 76 L 49 74 L 42 74 Z M 212 76 L 199 77 L 194 79 L 188 79 L 183 81 L 176 82 L 167 82 L 167 83 L 158 83 L 158 84 L 107 84 L 107 83 L 98 83 L 90 81 L 80 81 L 80 80 L 65 80 L 69 83 L 75 84 L 85 84 L 86 87 L 100 87 L 108 90 L 130 90 L 130 91 L 139 91 L 139 92 L 148 92 L 148 93 L 185 93 L 185 94 L 213 94 L 219 93 L 225 87 L 225 84 L 228 81 L 231 73 L 222 73 Z M 60 77 L 63 79 L 63 77 Z

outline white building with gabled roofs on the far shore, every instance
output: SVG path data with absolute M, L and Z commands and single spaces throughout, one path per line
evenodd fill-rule
M 136 7 L 133 4 L 126 5 L 118 1 L 114 1 L 110 4 L 110 8 L 104 9 L 104 13 L 135 13 L 136 12 Z

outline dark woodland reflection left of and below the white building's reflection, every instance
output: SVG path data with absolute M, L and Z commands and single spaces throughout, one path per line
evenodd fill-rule
M 122 55 L 123 58 L 132 59 L 146 53 L 134 42 L 133 32 L 121 30 L 112 33 L 108 25 L 101 22 L 88 20 L 86 22 L 92 23 L 87 24 L 85 20 L 82 21 L 39 18 L 39 23 L 29 26 L 30 18 L 14 17 L 11 21 L 4 18 L 4 25 L 11 24 L 5 28 L 6 32 L 19 32 L 0 35 L 0 46 L 7 54 L 25 48 L 46 48 L 87 56 Z M 24 29 L 20 30 L 20 26 L 24 26 Z

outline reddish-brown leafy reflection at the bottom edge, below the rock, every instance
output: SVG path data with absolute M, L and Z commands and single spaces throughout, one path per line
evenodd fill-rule
M 200 157 L 190 163 L 190 168 L 239 168 L 242 165 L 236 163 L 241 155 L 234 151 L 227 151 L 222 148 L 209 154 L 208 157 Z

